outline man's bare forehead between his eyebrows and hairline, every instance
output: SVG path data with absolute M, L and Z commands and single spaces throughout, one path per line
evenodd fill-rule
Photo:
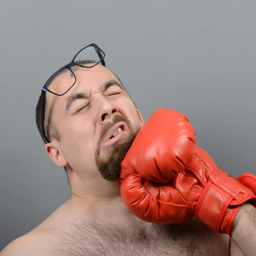
M 104 84 L 105 81 L 108 81 L 110 79 L 115 79 L 116 81 L 118 81 L 118 79 L 111 70 L 100 64 L 92 68 L 78 67 L 78 69 L 74 70 L 73 73 L 76 76 L 76 83 L 67 93 L 62 96 L 56 96 L 52 93 L 47 92 L 47 101 L 50 105 L 53 102 L 66 100 L 70 96 L 70 94 L 74 93 L 75 91 L 88 91 L 97 89 L 102 84 Z M 54 90 L 57 93 L 58 90 L 65 91 L 65 89 L 69 89 L 74 81 L 74 77 L 70 76 L 70 71 L 67 70 L 64 73 L 56 76 L 55 79 L 53 79 L 49 86 L 49 89 Z

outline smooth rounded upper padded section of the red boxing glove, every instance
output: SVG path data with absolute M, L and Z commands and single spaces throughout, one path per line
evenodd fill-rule
M 138 177 L 167 183 L 191 161 L 195 131 L 182 113 L 161 108 L 148 118 L 134 142 L 122 163 L 120 180 L 137 175 L 138 169 Z

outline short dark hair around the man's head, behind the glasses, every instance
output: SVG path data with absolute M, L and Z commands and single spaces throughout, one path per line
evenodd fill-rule
M 81 60 L 81 61 L 77 61 L 76 62 L 77 64 L 93 64 L 93 63 L 96 63 L 95 60 Z M 66 66 L 66 65 L 65 65 Z M 63 67 L 65 67 L 63 66 Z M 61 67 L 59 70 L 61 70 L 63 67 Z M 79 66 L 77 65 L 72 65 L 71 66 L 71 69 L 73 71 L 75 70 L 78 70 L 79 69 Z M 58 73 L 58 75 L 60 75 L 61 73 Z M 115 76 L 116 74 L 113 73 Z M 54 76 L 54 78 L 50 81 L 50 83 L 57 77 L 57 76 Z M 116 76 L 116 78 L 118 79 L 118 81 L 122 84 L 122 81 L 119 79 L 118 76 Z M 125 89 L 124 85 L 122 84 L 122 87 L 124 88 L 124 90 L 127 92 L 127 90 Z M 128 92 L 127 92 L 128 93 Z M 41 130 L 41 95 L 39 96 L 39 99 L 38 99 L 38 103 L 36 105 L 36 110 L 35 110 L 35 120 L 36 120 L 36 125 L 37 125 L 37 128 L 38 128 L 38 131 L 41 135 L 41 138 L 42 140 L 44 141 L 45 144 L 47 144 L 47 141 L 44 139 L 44 136 L 43 136 L 43 133 L 42 133 L 42 130 Z M 135 103 L 134 103 L 135 105 Z M 135 105 L 136 107 L 136 105 Z M 46 102 L 45 102 L 45 119 L 44 119 L 44 131 L 45 131 L 45 134 L 47 136 L 47 138 L 50 140 L 50 139 L 56 139 L 58 141 L 60 141 L 61 139 L 61 136 L 58 132 L 58 128 L 57 126 L 55 125 L 54 121 L 52 120 L 52 117 L 51 117 L 51 112 L 52 112 L 52 109 L 49 108 L 49 104 L 47 102 L 47 97 L 46 97 Z M 67 168 L 64 167 L 65 171 L 67 172 Z

